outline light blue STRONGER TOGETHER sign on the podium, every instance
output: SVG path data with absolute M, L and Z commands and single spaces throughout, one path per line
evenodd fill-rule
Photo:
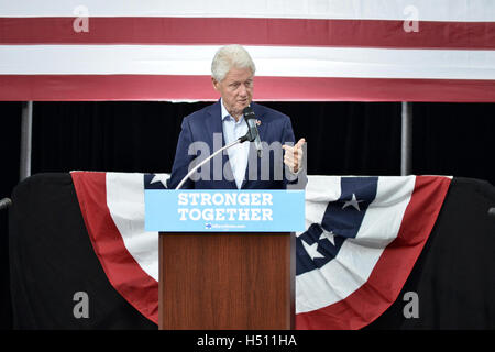
M 305 191 L 145 189 L 146 231 L 302 232 Z

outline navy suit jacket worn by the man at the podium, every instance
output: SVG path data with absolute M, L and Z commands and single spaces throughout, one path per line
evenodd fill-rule
M 263 157 L 258 158 L 254 143 L 244 142 L 251 145 L 241 188 L 285 189 L 287 183 L 295 182 L 294 177 L 288 179 L 293 175 L 287 174 L 286 167 L 284 167 L 282 150 L 283 144 L 292 143 L 294 145 L 295 143 L 290 119 L 255 102 L 252 102 L 251 107 L 261 122 L 257 129 L 264 148 Z M 193 146 L 190 147 L 190 145 Z M 177 187 L 189 172 L 189 165 L 194 160 L 198 157 L 195 163 L 197 165 L 198 160 L 205 160 L 224 145 L 220 100 L 184 118 L 167 188 L 175 189 Z M 286 177 L 286 175 L 288 176 Z M 199 173 L 189 177 L 182 188 L 237 189 L 227 152 L 215 156 L 209 163 L 201 166 Z

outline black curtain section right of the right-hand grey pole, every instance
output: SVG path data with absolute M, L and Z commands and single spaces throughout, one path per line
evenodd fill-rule
M 413 106 L 416 174 L 486 179 L 495 185 L 495 103 Z

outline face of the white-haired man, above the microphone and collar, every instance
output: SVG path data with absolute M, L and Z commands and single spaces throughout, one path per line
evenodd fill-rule
M 238 120 L 253 99 L 253 73 L 249 68 L 231 68 L 222 81 L 212 78 L 213 87 L 223 99 L 227 111 Z

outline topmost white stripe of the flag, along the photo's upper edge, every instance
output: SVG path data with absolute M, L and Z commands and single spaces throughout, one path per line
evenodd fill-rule
M 493 0 L 0 0 L 0 16 L 70 18 L 81 9 L 90 16 L 495 21 Z

